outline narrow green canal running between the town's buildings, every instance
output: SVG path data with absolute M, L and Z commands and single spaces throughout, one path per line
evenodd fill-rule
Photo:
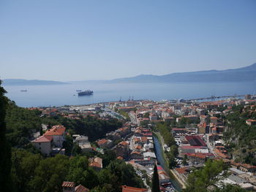
M 178 183 L 176 178 L 170 172 L 168 164 L 165 163 L 165 158 L 163 157 L 162 145 L 160 144 L 159 139 L 157 138 L 156 135 L 153 135 L 153 139 L 154 139 L 154 150 L 157 155 L 158 164 L 162 166 L 163 169 L 165 169 L 165 172 L 167 172 L 167 174 L 169 174 L 170 182 L 173 184 L 173 187 L 176 189 L 176 191 L 181 191 L 181 185 Z

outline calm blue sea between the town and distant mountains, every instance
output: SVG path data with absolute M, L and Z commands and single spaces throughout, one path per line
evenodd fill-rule
M 208 96 L 256 93 L 255 82 L 74 82 L 64 85 L 5 85 L 6 95 L 20 107 L 93 104 L 127 99 L 196 99 Z M 78 97 L 76 90 L 94 91 Z M 27 90 L 21 92 L 20 90 Z

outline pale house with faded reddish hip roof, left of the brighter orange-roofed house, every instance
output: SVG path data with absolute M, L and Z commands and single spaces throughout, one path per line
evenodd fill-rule
M 41 136 L 32 141 L 34 147 L 41 151 L 42 154 L 49 156 L 53 147 L 52 136 Z

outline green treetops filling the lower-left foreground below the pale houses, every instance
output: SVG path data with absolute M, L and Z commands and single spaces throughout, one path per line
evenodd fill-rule
M 42 158 L 26 150 L 12 149 L 12 191 L 62 191 L 61 184 L 67 180 L 93 192 L 118 192 L 121 185 L 145 187 L 132 165 L 124 161 L 111 161 L 97 172 L 84 155 Z

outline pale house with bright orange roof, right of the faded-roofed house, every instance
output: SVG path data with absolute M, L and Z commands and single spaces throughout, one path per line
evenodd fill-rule
M 65 140 L 66 128 L 64 126 L 53 126 L 45 132 L 44 136 L 53 137 L 53 143 L 56 147 L 62 147 Z

